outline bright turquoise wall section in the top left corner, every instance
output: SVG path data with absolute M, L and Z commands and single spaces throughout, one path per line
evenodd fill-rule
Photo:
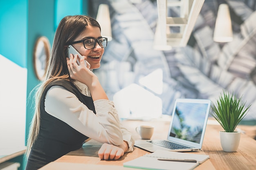
M 27 67 L 27 1 L 0 0 L 0 54 Z

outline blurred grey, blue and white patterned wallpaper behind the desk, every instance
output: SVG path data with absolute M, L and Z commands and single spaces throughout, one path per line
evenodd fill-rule
M 245 120 L 256 120 L 256 0 L 227 0 L 234 35 L 229 43 L 213 41 L 218 1 L 205 0 L 188 45 L 169 51 L 153 49 L 155 0 L 89 2 L 92 16 L 99 4 L 110 7 L 113 40 L 108 43 L 101 68 L 95 70 L 110 99 L 136 84 L 161 98 L 162 113 L 171 114 L 176 98 L 207 98 L 215 102 L 227 89 L 252 104 Z M 171 13 L 175 14 L 175 10 Z M 162 70 L 160 94 L 139 82 L 158 69 Z M 155 79 L 151 81 L 155 83 Z M 135 92 L 131 95 L 140 98 Z M 119 97 L 121 101 L 124 98 L 125 94 Z

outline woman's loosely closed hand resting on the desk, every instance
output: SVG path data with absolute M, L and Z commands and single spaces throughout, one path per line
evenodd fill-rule
M 117 160 L 128 150 L 127 142 L 123 142 L 120 146 L 112 144 L 103 144 L 99 149 L 98 155 L 101 160 Z

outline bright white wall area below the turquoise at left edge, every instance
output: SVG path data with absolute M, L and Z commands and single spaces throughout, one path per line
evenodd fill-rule
M 27 68 L 0 54 L 0 149 L 25 146 Z

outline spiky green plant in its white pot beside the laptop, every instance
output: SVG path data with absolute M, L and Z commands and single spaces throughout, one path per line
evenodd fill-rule
M 212 103 L 210 114 L 222 126 L 220 131 L 220 143 L 225 152 L 236 152 L 240 142 L 240 132 L 235 131 L 238 123 L 245 117 L 251 105 L 238 98 L 234 92 L 229 94 L 223 90 L 216 103 Z

